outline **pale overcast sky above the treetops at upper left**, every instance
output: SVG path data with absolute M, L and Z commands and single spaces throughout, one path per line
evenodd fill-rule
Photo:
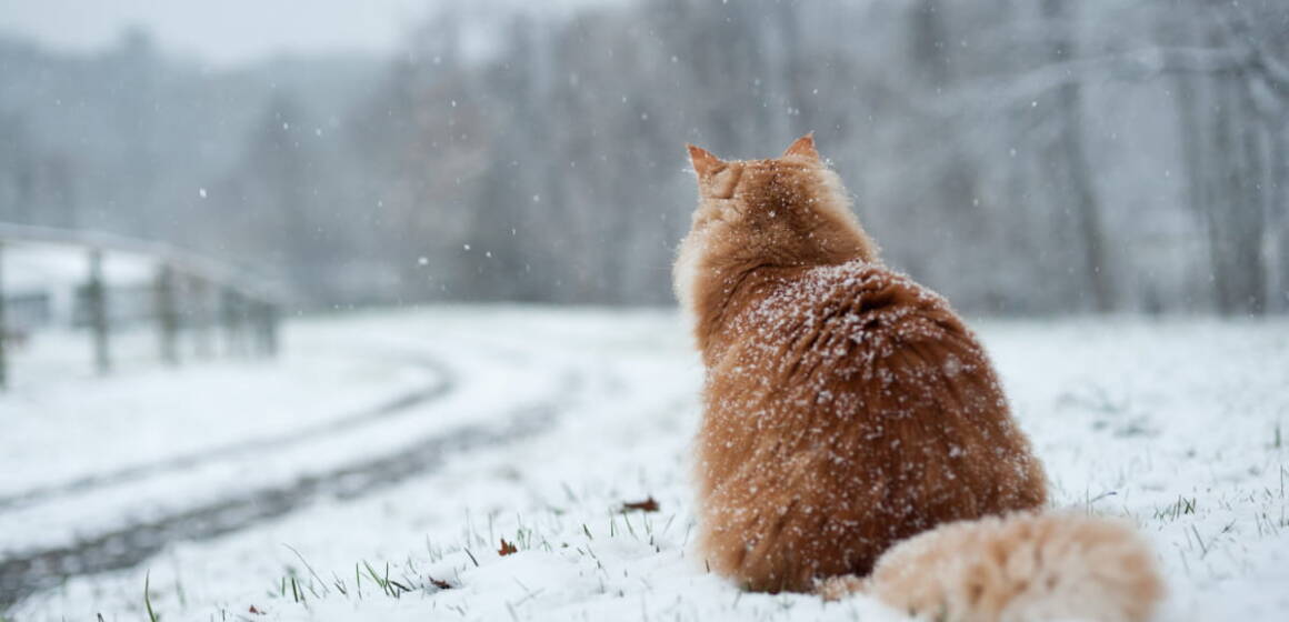
M 217 63 L 280 52 L 393 50 L 432 6 L 452 0 L 0 0 L 0 30 L 64 49 L 111 45 L 130 24 L 169 50 Z M 487 0 L 567 9 L 597 0 Z M 481 4 L 464 0 L 464 5 Z

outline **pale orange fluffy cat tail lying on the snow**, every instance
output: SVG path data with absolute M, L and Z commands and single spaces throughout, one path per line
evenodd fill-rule
M 945 622 L 1143 622 L 1164 585 L 1130 524 L 1018 513 L 940 525 L 892 546 L 869 577 L 833 577 L 817 591 L 864 592 Z

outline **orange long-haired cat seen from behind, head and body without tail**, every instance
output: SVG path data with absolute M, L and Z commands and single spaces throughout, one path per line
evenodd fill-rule
M 882 265 L 812 137 L 773 160 L 690 157 L 699 209 L 674 282 L 706 367 L 697 546 L 713 570 L 811 591 L 940 524 L 1045 504 L 980 343 Z

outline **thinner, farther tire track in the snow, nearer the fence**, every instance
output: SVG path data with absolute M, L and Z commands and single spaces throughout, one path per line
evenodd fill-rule
M 345 430 L 349 430 L 360 425 L 369 425 L 380 421 L 383 419 L 392 417 L 414 406 L 420 406 L 427 402 L 438 399 L 443 395 L 447 395 L 455 386 L 456 384 L 455 379 L 449 372 L 447 366 L 445 366 L 443 363 L 424 357 L 422 358 L 402 357 L 402 358 L 409 358 L 418 367 L 425 367 L 433 371 L 436 376 L 434 380 L 425 386 L 422 386 L 411 391 L 406 391 L 401 395 L 396 395 L 394 398 L 382 402 L 375 407 L 369 407 L 351 415 L 344 415 L 342 417 L 330 421 L 322 421 L 313 426 L 291 430 L 285 434 L 237 440 L 233 443 L 228 443 L 226 446 L 219 446 L 213 449 L 206 449 L 197 453 L 174 456 L 156 462 L 126 466 L 124 469 L 110 471 L 102 475 L 89 475 L 73 479 L 71 482 L 43 485 L 39 488 L 31 488 L 14 495 L 4 496 L 0 497 L 0 513 L 4 513 L 5 510 L 27 507 L 52 498 L 66 497 L 70 495 L 76 495 L 97 488 L 122 484 L 128 482 L 135 482 L 156 474 L 170 473 L 182 469 L 192 469 L 196 466 L 205 465 L 208 462 L 214 462 L 217 460 L 238 458 L 245 456 L 253 456 L 257 453 L 263 453 L 266 451 L 280 451 L 294 446 L 309 443 L 320 438 L 343 433 Z

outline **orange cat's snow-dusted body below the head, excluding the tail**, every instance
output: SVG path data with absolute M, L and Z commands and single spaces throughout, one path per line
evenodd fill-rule
M 993 367 L 941 296 L 861 261 L 767 273 L 742 295 L 699 433 L 714 567 L 809 590 L 940 523 L 1044 502 Z

